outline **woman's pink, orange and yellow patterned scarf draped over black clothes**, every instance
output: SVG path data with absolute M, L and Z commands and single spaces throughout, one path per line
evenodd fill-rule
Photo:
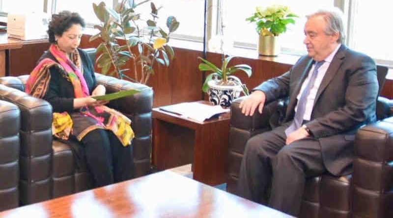
M 72 61 L 54 44 L 49 48 L 49 52 L 52 53 L 58 63 L 50 58 L 41 60 L 28 77 L 26 92 L 33 97 L 43 98 L 51 80 L 49 69 L 56 65 L 64 73 L 63 76 L 72 83 L 76 98 L 89 96 L 86 81 L 81 73 L 81 58 L 78 50 L 74 51 Z M 78 140 L 81 140 L 91 130 L 104 128 L 112 130 L 124 146 L 131 143 L 131 140 L 134 138 L 134 131 L 130 126 L 130 119 L 126 116 L 107 106 L 89 107 L 85 109 L 81 113 L 95 119 L 97 124 L 88 127 L 83 133 L 79 134 L 77 136 Z M 100 116 L 106 113 L 110 114 L 110 116 Z M 73 121 L 67 112 L 53 114 L 52 134 L 57 138 L 68 139 L 69 134 L 72 133 L 72 126 Z

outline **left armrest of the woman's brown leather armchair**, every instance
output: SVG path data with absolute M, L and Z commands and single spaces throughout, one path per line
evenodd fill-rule
M 0 84 L 0 99 L 21 113 L 20 200 L 22 204 L 50 199 L 52 179 L 52 106 L 45 100 Z M 40 169 L 40 170 L 33 170 Z

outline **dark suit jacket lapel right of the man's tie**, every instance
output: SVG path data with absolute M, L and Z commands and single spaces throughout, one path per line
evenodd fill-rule
M 332 81 L 333 77 L 336 75 L 338 68 L 341 66 L 342 61 L 345 57 L 345 50 L 346 47 L 341 45 L 341 47 L 338 49 L 336 55 L 334 56 L 332 63 L 330 63 L 328 70 L 325 73 L 325 76 L 323 77 L 321 84 L 319 85 L 318 91 L 315 96 L 314 100 L 314 105 L 317 102 L 319 96 L 325 90 L 325 88 L 328 86 L 330 81 Z

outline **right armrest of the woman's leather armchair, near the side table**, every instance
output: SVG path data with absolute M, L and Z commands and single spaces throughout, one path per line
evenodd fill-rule
M 106 87 L 107 93 L 129 89 L 142 90 L 135 95 L 112 100 L 108 106 L 131 119 L 131 126 L 135 133 L 133 150 L 136 176 L 148 174 L 150 172 L 153 89 L 140 83 L 133 83 L 100 73 L 95 73 L 95 76 L 97 83 Z

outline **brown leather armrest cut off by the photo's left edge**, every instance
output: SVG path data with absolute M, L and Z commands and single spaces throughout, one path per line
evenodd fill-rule
M 0 211 L 19 204 L 19 128 L 18 106 L 0 100 Z

